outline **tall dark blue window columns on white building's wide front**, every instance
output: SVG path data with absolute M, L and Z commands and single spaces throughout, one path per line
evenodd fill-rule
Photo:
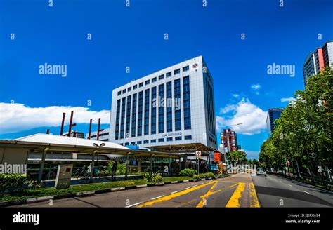
M 158 92 L 157 92 L 157 86 L 154 86 L 152 88 L 144 90 L 144 95 L 143 91 L 141 91 L 139 93 L 135 93 L 133 95 L 129 95 L 127 97 L 123 97 L 122 99 L 117 100 L 115 140 L 124 139 L 124 137 L 127 138 L 129 136 L 136 137 L 136 135 L 138 137 L 142 135 L 150 135 L 150 134 L 154 135 L 157 133 L 157 127 L 158 127 L 158 133 L 164 133 L 165 131 L 164 122 L 166 122 L 166 132 L 173 131 L 173 123 L 175 131 L 179 131 L 182 129 L 181 109 L 172 106 L 166 107 L 166 114 L 165 114 L 166 121 L 164 121 L 164 107 L 163 109 L 158 110 L 158 116 L 157 116 L 156 107 L 158 106 L 156 104 L 154 106 L 154 103 L 156 103 L 155 99 L 157 97 L 157 93 L 160 98 L 164 98 L 164 86 L 166 88 L 165 90 L 166 101 L 172 100 L 173 99 L 172 81 L 167 82 L 165 85 L 164 83 L 159 85 Z M 136 99 L 137 95 L 138 95 L 138 103 Z M 174 98 L 176 100 L 181 100 L 181 79 L 174 80 Z M 144 110 L 143 110 L 143 105 L 144 105 Z M 136 107 L 138 107 L 138 113 L 136 113 L 137 110 Z M 175 117 L 173 117 L 173 109 Z M 189 130 L 191 129 L 190 76 L 183 77 L 183 114 L 184 114 L 183 117 L 184 130 Z M 125 116 L 126 116 L 126 124 L 125 124 Z M 131 133 L 130 133 L 130 124 L 131 124 Z M 138 130 L 137 133 L 136 133 L 136 128 Z

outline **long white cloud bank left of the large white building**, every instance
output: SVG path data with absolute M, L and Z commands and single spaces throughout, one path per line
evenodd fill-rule
M 110 110 L 90 111 L 86 107 L 50 106 L 31 108 L 25 104 L 0 103 L 0 133 L 15 133 L 31 128 L 60 126 L 63 113 L 65 123 L 70 122 L 70 111 L 74 111 L 73 123 L 110 123 Z

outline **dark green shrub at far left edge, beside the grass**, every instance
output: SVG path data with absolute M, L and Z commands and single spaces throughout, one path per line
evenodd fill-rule
M 0 194 L 24 191 L 31 185 L 26 175 L 20 173 L 0 174 Z

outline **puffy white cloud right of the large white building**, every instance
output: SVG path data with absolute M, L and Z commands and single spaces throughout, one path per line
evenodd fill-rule
M 233 111 L 231 118 L 216 116 L 218 131 L 237 123 L 242 123 L 242 125 L 232 126 L 233 130 L 244 135 L 254 135 L 266 129 L 267 112 L 252 104 L 249 99 L 242 98 L 237 104 L 228 104 L 221 111 L 228 111 L 228 109 Z M 221 114 L 224 113 L 221 112 Z

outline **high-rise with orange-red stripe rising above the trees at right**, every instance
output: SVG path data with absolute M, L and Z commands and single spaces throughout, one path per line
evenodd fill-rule
M 333 68 L 333 41 L 327 41 L 324 46 L 317 48 L 306 57 L 303 65 L 305 86 L 312 75 L 318 74 L 327 66 Z

